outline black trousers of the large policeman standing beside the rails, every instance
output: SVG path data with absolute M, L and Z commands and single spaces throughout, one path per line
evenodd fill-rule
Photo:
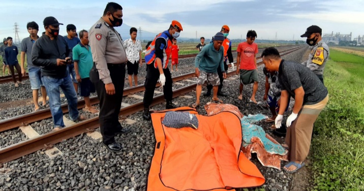
M 105 144 L 115 142 L 115 131 L 122 129 L 122 125 L 118 118 L 123 100 L 125 65 L 126 63 L 119 65 L 107 65 L 107 68 L 110 71 L 112 83 L 115 87 L 115 94 L 113 95 L 106 93 L 104 82 L 101 80 L 95 80 L 93 75 L 97 73 L 96 67 L 94 66 L 90 71 L 90 80 L 94 83 L 97 97 L 100 100 L 99 122 L 101 135 Z M 96 75 L 98 78 L 98 73 Z

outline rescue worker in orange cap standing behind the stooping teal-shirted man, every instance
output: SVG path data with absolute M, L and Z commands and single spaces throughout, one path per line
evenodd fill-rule
M 224 47 L 224 68 L 225 68 L 225 72 L 227 73 L 227 70 L 229 67 L 234 67 L 234 58 L 232 57 L 232 53 L 231 53 L 231 41 L 230 39 L 227 38 L 227 36 L 229 35 L 229 31 L 230 28 L 228 25 L 224 25 L 221 27 L 221 33 L 224 34 L 225 40 L 223 41 L 223 47 Z M 227 65 L 227 61 L 229 60 L 229 65 Z M 234 68 L 233 68 L 234 69 Z M 226 94 L 222 92 L 222 88 L 223 88 L 223 73 L 221 72 L 220 67 L 218 68 L 218 74 L 219 74 L 219 78 L 220 78 L 220 85 L 218 88 L 218 95 L 226 97 Z M 207 85 L 207 91 L 206 93 L 204 93 L 204 96 L 210 96 L 211 95 L 211 89 L 213 89 L 212 85 Z

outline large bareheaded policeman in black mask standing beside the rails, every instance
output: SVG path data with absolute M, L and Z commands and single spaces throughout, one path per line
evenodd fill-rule
M 111 151 L 122 150 L 115 134 L 125 134 L 118 114 L 123 99 L 127 55 L 122 37 L 114 27 L 123 23 L 123 8 L 116 3 L 106 5 L 104 15 L 89 30 L 89 42 L 94 60 L 90 80 L 94 83 L 100 100 L 100 130 L 103 144 Z

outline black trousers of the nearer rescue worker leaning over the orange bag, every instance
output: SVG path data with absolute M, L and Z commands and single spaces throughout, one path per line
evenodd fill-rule
M 169 69 L 163 69 L 164 76 L 166 77 L 166 83 L 163 86 L 163 93 L 164 93 L 164 99 L 166 99 L 167 102 L 172 101 L 172 77 L 171 73 L 169 72 Z M 144 92 L 144 107 L 148 108 L 153 102 L 153 95 L 154 90 L 156 89 L 156 84 L 159 79 L 159 70 L 154 68 L 154 64 L 151 63 L 150 65 L 146 66 L 146 77 L 145 77 L 145 92 Z

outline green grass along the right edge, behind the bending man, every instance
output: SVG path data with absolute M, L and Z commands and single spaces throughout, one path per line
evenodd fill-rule
M 312 139 L 312 183 L 314 190 L 364 190 L 364 79 L 357 76 L 363 74 L 362 58 L 339 51 L 330 57 L 324 72 L 329 101 Z

